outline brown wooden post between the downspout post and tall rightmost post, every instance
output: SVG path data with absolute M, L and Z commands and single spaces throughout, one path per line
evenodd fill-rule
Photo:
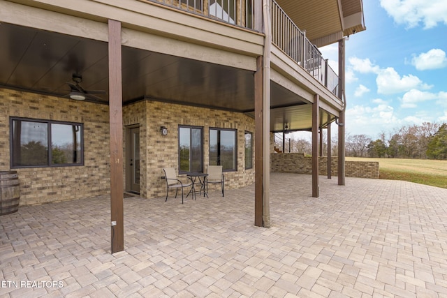
M 318 198 L 320 190 L 318 186 L 318 124 L 320 110 L 320 96 L 314 95 L 312 104 L 312 197 Z

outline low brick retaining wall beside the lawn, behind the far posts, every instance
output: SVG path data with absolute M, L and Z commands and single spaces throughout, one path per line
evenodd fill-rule
M 299 153 L 270 154 L 272 172 L 289 172 L 298 174 L 312 174 L 312 157 Z M 331 173 L 337 176 L 338 158 L 331 159 Z M 379 179 L 379 163 L 376 161 L 345 161 L 346 177 Z M 328 174 L 328 158 L 318 158 L 318 174 Z

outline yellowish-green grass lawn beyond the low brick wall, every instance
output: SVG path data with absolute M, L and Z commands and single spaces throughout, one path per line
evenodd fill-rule
M 378 161 L 380 179 L 405 180 L 447 188 L 447 161 L 357 157 L 346 157 L 346 161 Z

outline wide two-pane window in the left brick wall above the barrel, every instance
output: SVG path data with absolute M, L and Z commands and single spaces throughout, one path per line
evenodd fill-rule
M 83 165 L 82 124 L 11 118 L 11 167 Z

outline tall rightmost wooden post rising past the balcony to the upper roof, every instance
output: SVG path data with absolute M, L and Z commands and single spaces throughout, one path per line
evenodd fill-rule
M 340 112 L 339 120 L 338 120 L 338 185 L 345 184 L 345 167 L 344 167 L 344 154 L 345 154 L 345 142 L 344 142 L 344 133 L 345 133 L 345 119 L 344 113 L 346 110 L 346 98 L 344 98 L 344 39 L 339 40 L 338 42 L 338 73 L 339 73 L 339 86 L 338 86 L 338 97 L 342 99 L 344 103 L 344 108 Z

